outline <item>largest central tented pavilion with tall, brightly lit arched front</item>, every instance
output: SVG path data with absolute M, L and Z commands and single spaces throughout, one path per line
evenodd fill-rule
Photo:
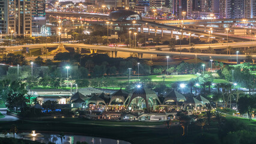
M 157 105 L 157 103 L 161 104 L 156 92 L 148 88 L 144 88 L 143 86 L 137 86 L 135 90 L 128 95 L 126 101 L 129 101 L 127 108 L 132 106 L 138 110 L 143 107 L 147 107 L 147 109 L 149 109 L 150 107 Z M 124 103 L 126 103 L 126 101 Z

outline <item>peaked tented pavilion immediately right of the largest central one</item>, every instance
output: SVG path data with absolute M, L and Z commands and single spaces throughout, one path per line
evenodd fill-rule
M 178 105 L 178 102 L 183 103 L 184 101 L 186 101 L 186 98 L 178 93 L 177 91 L 170 91 L 165 95 L 165 99 L 163 100 L 163 104 L 175 104 Z

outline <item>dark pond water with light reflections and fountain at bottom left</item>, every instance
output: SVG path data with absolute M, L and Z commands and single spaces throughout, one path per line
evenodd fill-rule
M 41 133 L 43 137 L 25 137 L 29 133 L 15 134 L 17 139 L 33 140 L 41 143 L 54 142 L 61 144 L 61 138 L 59 134 Z M 4 137 L 4 134 L 0 134 L 0 137 Z M 7 137 L 13 137 L 13 134 L 7 134 Z M 101 137 L 81 136 L 74 134 L 65 134 L 65 139 L 62 139 L 62 144 L 76 144 L 76 142 L 87 142 L 88 144 L 130 144 L 123 140 L 106 139 Z

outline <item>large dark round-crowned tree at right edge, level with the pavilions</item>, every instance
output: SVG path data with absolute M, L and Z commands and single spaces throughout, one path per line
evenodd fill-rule
M 237 103 L 237 109 L 241 114 L 247 113 L 248 119 L 252 119 L 252 112 L 256 109 L 256 98 L 245 95 L 245 97 L 240 97 Z

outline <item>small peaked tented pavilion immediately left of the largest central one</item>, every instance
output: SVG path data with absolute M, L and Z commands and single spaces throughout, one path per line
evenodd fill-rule
M 126 98 L 128 97 L 128 94 L 123 91 L 123 89 L 119 89 L 118 91 L 114 92 L 111 95 L 111 100 L 109 104 L 121 104 L 124 105 L 124 101 L 126 101 Z

